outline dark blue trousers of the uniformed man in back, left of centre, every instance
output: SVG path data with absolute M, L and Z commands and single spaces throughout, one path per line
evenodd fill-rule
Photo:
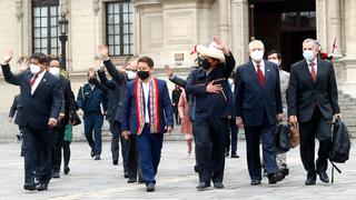
M 102 139 L 101 139 L 101 127 L 103 118 L 100 113 L 85 114 L 85 134 L 91 150 L 96 156 L 101 154 Z M 93 138 L 92 138 L 93 131 Z

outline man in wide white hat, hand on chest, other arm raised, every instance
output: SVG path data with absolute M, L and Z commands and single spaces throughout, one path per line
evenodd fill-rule
M 198 190 L 210 187 L 222 189 L 225 143 L 228 117 L 231 117 L 228 77 L 235 68 L 233 54 L 219 38 L 207 48 L 197 46 L 201 68 L 188 76 L 186 92 L 196 99 L 194 137 L 196 144 Z

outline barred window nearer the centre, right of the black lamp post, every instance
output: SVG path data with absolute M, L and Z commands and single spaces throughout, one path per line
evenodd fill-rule
M 132 13 L 130 0 L 107 3 L 107 44 L 110 56 L 132 54 Z

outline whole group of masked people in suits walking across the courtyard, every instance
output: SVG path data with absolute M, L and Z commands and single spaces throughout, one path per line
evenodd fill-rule
M 329 181 L 326 170 L 332 120 L 340 112 L 335 72 L 330 62 L 318 58 L 316 40 L 306 39 L 301 47 L 304 59 L 291 66 L 289 74 L 281 70 L 280 52 L 268 52 L 266 60 L 264 43 L 250 41 L 250 60 L 236 68 L 234 91 L 228 79 L 236 61 L 217 37 L 209 47 L 196 46 L 192 53 L 197 54 L 197 66 L 187 79 L 174 76 L 166 66 L 169 80 L 186 93 L 195 140 L 194 169 L 199 177 L 197 190 L 206 190 L 211 181 L 215 188 L 224 188 L 231 121 L 234 128 L 245 129 L 251 186 L 261 183 L 263 167 L 269 184 L 289 173 L 286 154 L 276 152 L 274 137 L 276 124 L 287 121 L 299 126 L 300 157 L 307 172 L 305 184 L 315 184 L 317 174 L 323 182 Z M 128 183 L 145 182 L 147 191 L 155 191 L 164 133 L 174 129 L 167 83 L 155 77 L 155 63 L 149 57 L 116 68 L 107 47 L 100 46 L 99 52 L 102 66 L 98 71 L 89 69 L 88 83 L 80 88 L 77 101 L 69 80 L 60 76 L 59 60 L 49 62 L 43 53 L 33 53 L 29 64 L 23 62 L 21 72 L 13 74 L 9 66 L 12 53 L 4 56 L 1 62 L 4 79 L 21 91 L 13 108 L 23 138 L 24 190 L 47 190 L 50 179 L 60 177 L 61 148 L 63 171 L 69 172 L 70 141 L 65 139 L 66 131 L 80 123 L 79 113 L 90 156 L 100 160 L 106 116 L 112 133 L 112 164 L 118 164 L 120 142 Z M 316 163 L 315 138 L 319 140 Z M 236 147 L 231 153 L 236 154 Z

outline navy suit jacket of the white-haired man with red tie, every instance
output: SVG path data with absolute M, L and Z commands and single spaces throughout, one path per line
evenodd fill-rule
M 261 126 L 266 120 L 275 124 L 277 113 L 283 113 L 277 64 L 265 60 L 265 87 L 251 61 L 237 67 L 235 101 L 236 117 L 241 117 L 245 126 Z

